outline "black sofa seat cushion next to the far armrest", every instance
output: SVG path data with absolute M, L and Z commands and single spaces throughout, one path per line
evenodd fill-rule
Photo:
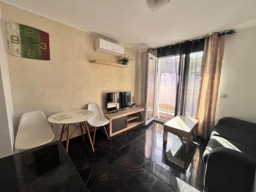
M 214 127 L 211 136 L 220 136 L 225 139 L 229 139 L 241 143 L 243 145 L 247 145 L 256 150 L 256 135 L 250 134 L 241 129 L 233 128 L 222 124 L 217 124 Z

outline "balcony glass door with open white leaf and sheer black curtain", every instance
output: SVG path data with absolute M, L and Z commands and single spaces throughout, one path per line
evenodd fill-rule
M 146 120 L 166 122 L 176 115 L 195 117 L 204 41 L 147 53 Z M 169 49 L 169 50 L 168 50 Z M 164 56 L 166 55 L 167 56 Z

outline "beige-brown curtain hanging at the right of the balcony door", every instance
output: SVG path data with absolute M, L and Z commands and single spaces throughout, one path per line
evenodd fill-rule
M 209 138 L 215 125 L 215 112 L 224 53 L 224 35 L 214 33 L 205 39 L 196 118 L 198 135 Z

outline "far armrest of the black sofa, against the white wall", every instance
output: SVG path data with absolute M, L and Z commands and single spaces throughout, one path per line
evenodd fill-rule
M 232 117 L 223 117 L 218 121 L 218 124 L 234 127 L 246 132 L 256 134 L 256 123 L 236 119 Z

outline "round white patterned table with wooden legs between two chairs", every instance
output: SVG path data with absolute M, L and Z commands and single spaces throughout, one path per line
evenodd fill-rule
M 67 130 L 67 141 L 66 141 L 67 152 L 69 150 L 70 125 L 76 126 L 76 129 L 78 127 L 80 128 L 83 141 L 84 141 L 84 137 L 83 137 L 82 127 L 84 127 L 84 129 L 88 134 L 89 141 L 92 146 L 92 150 L 94 152 L 94 147 L 93 147 L 92 139 L 90 136 L 90 131 L 89 131 L 87 121 L 89 119 L 94 118 L 95 116 L 96 116 L 96 113 L 90 110 L 71 110 L 71 111 L 63 111 L 60 113 L 53 114 L 48 118 L 48 121 L 56 124 L 63 124 L 61 134 L 60 134 L 60 141 L 62 139 L 63 133 Z M 79 125 L 76 125 L 75 123 L 79 123 Z

